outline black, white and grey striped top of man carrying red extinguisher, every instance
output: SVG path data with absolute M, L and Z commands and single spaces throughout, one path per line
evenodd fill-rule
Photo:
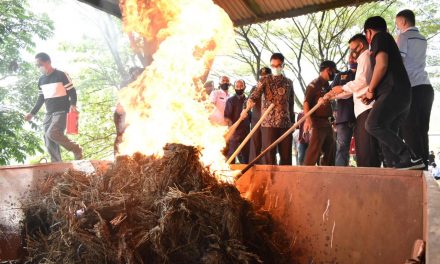
M 76 105 L 76 90 L 72 80 L 65 72 L 54 69 L 49 75 L 43 75 L 38 80 L 38 100 L 31 114 L 35 115 L 43 105 L 46 113 L 68 112 L 70 105 Z

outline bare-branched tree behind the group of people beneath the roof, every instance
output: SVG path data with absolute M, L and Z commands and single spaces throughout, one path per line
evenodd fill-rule
M 282 52 L 286 69 L 293 73 L 296 86 L 295 103 L 302 108 L 302 97 L 307 83 L 304 68 L 318 66 L 323 60 L 346 65 L 347 41 L 354 32 L 361 31 L 361 23 L 373 14 L 387 15 L 394 1 L 347 6 L 290 19 L 243 26 L 237 32 L 237 51 L 233 59 L 248 67 L 248 73 L 257 81 L 257 69 L 262 56 Z M 354 29 L 354 30 L 353 30 Z

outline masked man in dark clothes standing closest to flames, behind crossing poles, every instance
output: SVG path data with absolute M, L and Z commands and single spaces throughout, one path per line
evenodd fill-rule
M 226 101 L 225 107 L 225 119 L 228 123 L 228 126 L 232 126 L 238 119 L 240 119 L 240 114 L 243 111 L 243 106 L 246 102 L 246 96 L 244 94 L 246 83 L 244 80 L 237 80 L 234 83 L 234 88 L 235 95 L 229 97 L 229 99 Z M 241 121 L 240 125 L 234 131 L 234 134 L 232 134 L 231 139 L 228 142 L 228 159 L 237 150 L 238 146 L 241 144 L 241 142 L 243 142 L 249 132 L 250 120 L 249 117 L 246 117 L 243 121 Z M 237 157 L 241 164 L 247 164 L 249 162 L 249 142 L 243 147 Z M 231 164 L 234 163 L 235 161 L 231 162 Z

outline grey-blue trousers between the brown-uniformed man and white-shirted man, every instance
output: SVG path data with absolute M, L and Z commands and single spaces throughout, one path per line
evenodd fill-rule
M 348 166 L 353 127 L 354 124 L 352 122 L 336 124 L 336 166 Z

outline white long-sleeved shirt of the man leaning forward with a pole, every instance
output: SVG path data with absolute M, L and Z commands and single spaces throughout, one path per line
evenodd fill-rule
M 354 115 L 358 117 L 363 112 L 373 107 L 373 102 L 369 105 L 362 103 L 358 97 L 365 94 L 370 85 L 373 69 L 371 69 L 370 51 L 365 50 L 357 59 L 358 67 L 354 80 L 342 86 L 344 93 L 337 98 L 348 98 L 353 95 Z

